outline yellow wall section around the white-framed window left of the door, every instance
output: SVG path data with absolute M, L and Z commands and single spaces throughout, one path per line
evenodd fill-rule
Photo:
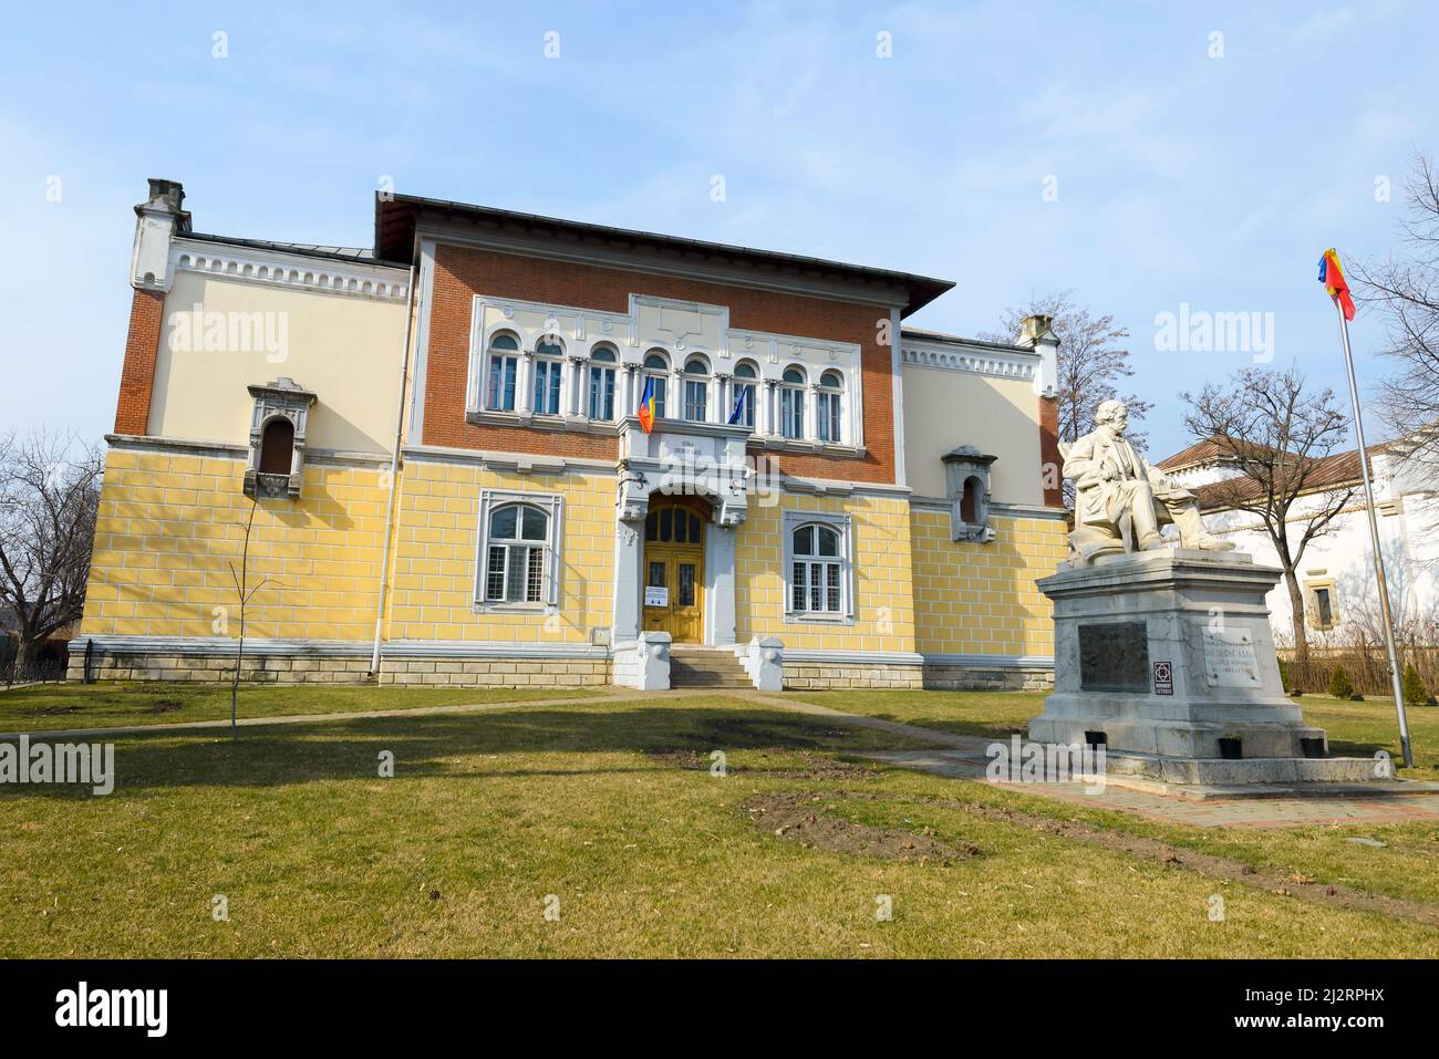
M 479 505 L 485 489 L 563 498 L 560 607 L 476 610 Z M 400 481 L 390 639 L 589 643 L 612 623 L 614 479 L 512 475 L 475 465 L 413 460 Z

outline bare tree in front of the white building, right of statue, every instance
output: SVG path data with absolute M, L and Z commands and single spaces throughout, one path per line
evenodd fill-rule
M 1184 414 L 1190 433 L 1213 440 L 1239 471 L 1206 486 L 1206 506 L 1243 511 L 1263 525 L 1289 591 L 1294 652 L 1308 659 L 1304 594 L 1295 571 L 1309 542 L 1328 532 L 1354 498 L 1351 485 L 1324 488 L 1334 471 L 1324 458 L 1348 440 L 1348 416 L 1333 390 L 1305 393 L 1304 377 L 1292 367 L 1245 368 L 1227 386 L 1209 383 L 1199 396 L 1181 393 L 1180 400 L 1190 406 Z

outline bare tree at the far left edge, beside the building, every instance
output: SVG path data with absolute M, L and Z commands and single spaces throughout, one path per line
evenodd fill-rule
M 0 606 L 13 614 L 17 668 L 85 609 L 99 450 L 37 430 L 0 439 Z

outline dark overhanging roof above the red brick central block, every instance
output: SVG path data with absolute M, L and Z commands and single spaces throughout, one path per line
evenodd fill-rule
M 381 260 L 409 265 L 414 253 L 414 232 L 425 214 L 442 220 L 465 220 L 476 226 L 502 229 L 511 235 L 534 233 L 541 236 L 570 236 L 590 245 L 599 242 L 620 243 L 627 249 L 643 249 L 675 258 L 696 256 L 725 259 L 732 263 L 760 271 L 778 271 L 829 276 L 862 283 L 888 283 L 902 286 L 908 299 L 904 312 L 909 314 L 928 305 L 954 286 L 953 281 L 920 276 L 909 272 L 894 272 L 863 265 L 806 258 L 776 250 L 757 250 L 748 246 L 708 243 L 699 239 L 666 236 L 655 232 L 590 224 L 561 217 L 544 217 L 535 213 L 517 213 L 492 206 L 471 206 L 443 199 L 425 199 L 409 194 L 377 193 L 374 203 L 374 253 Z

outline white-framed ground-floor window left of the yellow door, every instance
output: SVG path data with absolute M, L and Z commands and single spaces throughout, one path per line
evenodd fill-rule
M 560 498 L 553 495 L 481 495 L 481 604 L 558 603 Z

